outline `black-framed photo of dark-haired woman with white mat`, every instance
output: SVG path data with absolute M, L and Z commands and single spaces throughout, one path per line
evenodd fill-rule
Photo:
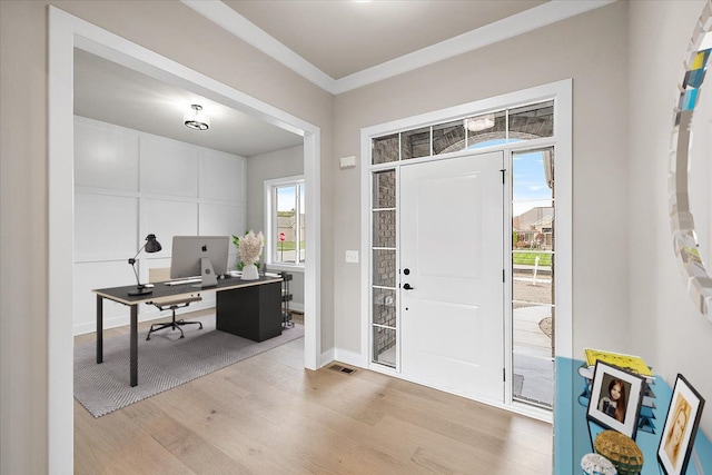
M 645 378 L 596 362 L 586 418 L 635 439 Z

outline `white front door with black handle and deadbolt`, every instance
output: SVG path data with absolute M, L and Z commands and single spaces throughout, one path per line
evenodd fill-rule
M 504 400 L 503 152 L 400 168 L 400 372 Z

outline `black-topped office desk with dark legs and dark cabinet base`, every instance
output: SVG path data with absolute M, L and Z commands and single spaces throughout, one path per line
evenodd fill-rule
M 103 362 L 103 300 L 118 301 L 130 307 L 130 383 L 138 385 L 138 306 L 160 297 L 180 297 L 215 291 L 216 328 L 255 342 L 281 335 L 281 277 L 260 277 L 243 280 L 230 277 L 218 280 L 215 287 L 197 288 L 196 284 L 168 286 L 154 284 L 154 291 L 130 296 L 136 285 L 92 290 L 97 295 L 97 364 Z

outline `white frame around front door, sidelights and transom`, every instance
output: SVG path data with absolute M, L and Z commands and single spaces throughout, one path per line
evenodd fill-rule
M 404 130 L 412 130 L 419 127 L 427 127 L 435 123 L 443 123 L 451 120 L 458 120 L 463 117 L 475 116 L 477 113 L 500 110 L 524 103 L 538 102 L 554 99 L 554 137 L 556 147 L 556 167 L 554 167 L 554 180 L 556 182 L 556 321 L 555 321 L 555 350 L 556 357 L 573 357 L 573 145 L 572 145 L 572 80 L 564 79 L 548 85 L 537 86 L 515 92 L 505 93 L 461 106 L 426 112 L 419 116 L 394 120 L 362 129 L 360 131 L 360 196 L 362 196 L 362 220 L 360 220 L 360 251 L 363 256 L 360 267 L 360 365 L 375 372 L 400 377 L 397 369 L 392 369 L 379 364 L 372 363 L 370 354 L 370 236 L 372 236 L 372 171 L 377 169 L 398 168 L 398 162 L 370 165 L 372 139 Z M 546 140 L 528 140 L 520 142 L 512 148 L 531 148 L 542 144 L 551 144 Z M 478 151 L 493 150 L 495 148 L 484 148 Z M 508 151 L 511 154 L 511 150 Z M 442 157 L 425 157 L 422 159 L 408 160 L 437 160 L 446 157 L 454 157 L 462 154 L 472 154 L 472 150 L 449 154 Z M 505 155 L 505 160 L 507 159 Z M 505 219 L 507 217 L 505 216 Z M 511 217 L 510 217 L 511 219 Z M 506 296 L 505 296 L 506 297 Z M 510 313 L 511 314 L 511 313 Z M 511 318 L 510 318 L 511 319 Z M 511 323 L 508 324 L 511 326 Z M 506 327 L 505 327 L 506 331 Z M 511 331 L 510 331 L 511 333 Z M 510 344 L 505 345 L 505 352 L 511 354 Z M 506 360 L 511 362 L 511 356 Z M 510 363 L 511 365 L 511 363 Z M 508 392 L 511 394 L 511 392 Z M 511 397 L 508 403 L 502 407 L 512 412 L 521 412 L 540 418 L 546 418 L 536 410 L 530 410 L 521 405 L 513 405 Z M 534 413 L 534 414 L 533 414 Z M 550 416 L 551 417 L 551 416 Z

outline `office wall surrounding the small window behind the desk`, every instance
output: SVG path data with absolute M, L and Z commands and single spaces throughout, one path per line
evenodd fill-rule
M 247 228 L 265 230 L 265 180 L 304 175 L 304 146 L 286 148 L 269 154 L 256 155 L 247 159 Z M 309 192 L 306 190 L 306 192 Z M 308 219 L 308 218 L 307 218 Z M 289 291 L 294 299 L 290 308 L 304 311 L 304 269 L 273 267 L 287 270 L 294 276 Z

